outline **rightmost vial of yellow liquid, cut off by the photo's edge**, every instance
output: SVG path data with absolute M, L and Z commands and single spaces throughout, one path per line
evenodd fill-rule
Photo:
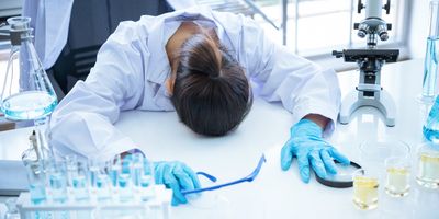
M 426 143 L 418 153 L 416 182 L 428 188 L 439 188 L 439 145 Z

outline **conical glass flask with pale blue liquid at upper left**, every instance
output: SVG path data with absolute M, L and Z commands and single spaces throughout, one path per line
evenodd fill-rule
M 37 143 L 49 148 L 45 124 L 57 105 L 55 90 L 33 46 L 31 19 L 14 16 L 7 21 L 12 47 L 7 72 L 0 81 L 0 108 L 7 119 L 33 120 Z

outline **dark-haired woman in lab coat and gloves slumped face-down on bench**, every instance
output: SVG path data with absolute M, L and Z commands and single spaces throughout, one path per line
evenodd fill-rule
M 136 146 L 113 123 L 121 111 L 134 108 L 176 110 L 193 131 L 223 136 L 245 118 L 252 92 L 282 102 L 293 115 L 283 170 L 297 157 L 307 183 L 309 165 L 325 177 L 336 172 L 333 159 L 349 162 L 323 140 L 323 132 L 334 129 L 340 103 L 335 72 L 272 43 L 252 20 L 207 8 L 122 22 L 87 80 L 54 112 L 52 143 L 59 152 L 103 161 L 132 151 Z M 180 189 L 200 186 L 181 162 L 159 162 L 155 172 L 158 183 L 172 188 L 173 205 L 187 201 Z

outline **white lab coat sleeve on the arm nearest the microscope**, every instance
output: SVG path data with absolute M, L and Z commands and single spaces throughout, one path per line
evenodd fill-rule
M 285 46 L 270 41 L 254 20 L 243 23 L 241 50 L 247 73 L 269 102 L 280 101 L 297 123 L 307 114 L 330 118 L 325 135 L 334 130 L 340 105 L 340 90 L 334 70 L 306 60 Z

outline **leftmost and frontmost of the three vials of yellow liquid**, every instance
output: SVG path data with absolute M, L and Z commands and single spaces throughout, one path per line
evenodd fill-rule
M 374 209 L 378 207 L 376 176 L 359 169 L 353 173 L 353 204 L 360 209 Z

